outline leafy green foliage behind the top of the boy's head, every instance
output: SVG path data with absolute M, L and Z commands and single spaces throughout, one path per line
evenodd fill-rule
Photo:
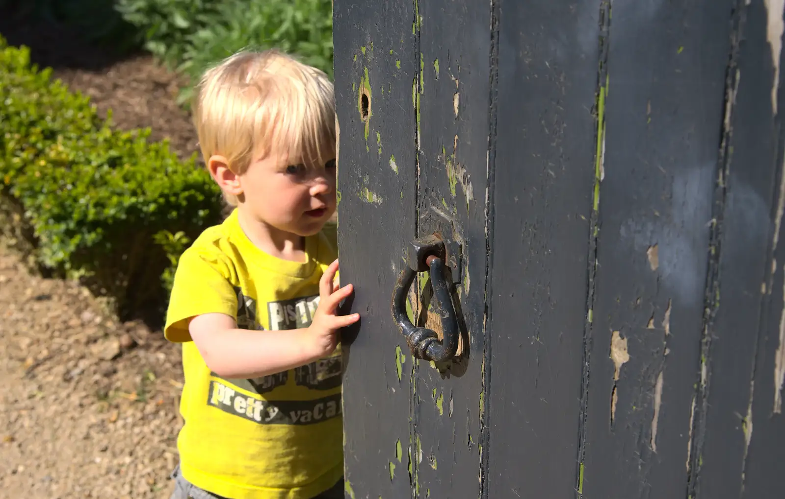
M 145 46 L 193 84 L 240 49 L 277 47 L 333 74 L 331 0 L 118 0 Z M 181 103 L 190 99 L 188 86 Z

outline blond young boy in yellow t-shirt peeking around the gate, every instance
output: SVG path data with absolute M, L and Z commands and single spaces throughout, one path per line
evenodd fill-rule
M 183 343 L 173 499 L 343 497 L 334 284 L 334 90 L 275 50 L 206 71 L 206 167 L 234 206 L 181 256 L 165 334 Z

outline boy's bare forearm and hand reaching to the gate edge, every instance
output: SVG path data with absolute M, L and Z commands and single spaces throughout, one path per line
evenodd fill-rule
M 223 378 L 261 378 L 330 355 L 338 330 L 354 324 L 360 314 L 337 316 L 338 303 L 352 294 L 352 285 L 333 284 L 338 260 L 319 281 L 319 307 L 309 327 L 288 331 L 238 329 L 232 316 L 206 313 L 188 324 L 207 367 Z

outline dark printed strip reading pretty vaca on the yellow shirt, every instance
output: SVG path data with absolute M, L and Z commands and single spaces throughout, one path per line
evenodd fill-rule
M 313 425 L 341 415 L 340 393 L 317 400 L 262 400 L 221 381 L 210 381 L 207 403 L 260 425 Z

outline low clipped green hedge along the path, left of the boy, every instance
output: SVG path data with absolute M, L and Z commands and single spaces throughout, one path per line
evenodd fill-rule
M 188 238 L 220 219 L 220 192 L 195 155 L 178 160 L 166 142 L 148 142 L 148 129 L 113 130 L 2 37 L 0 103 L 5 240 L 112 298 L 121 316 L 165 302 L 162 276 Z

